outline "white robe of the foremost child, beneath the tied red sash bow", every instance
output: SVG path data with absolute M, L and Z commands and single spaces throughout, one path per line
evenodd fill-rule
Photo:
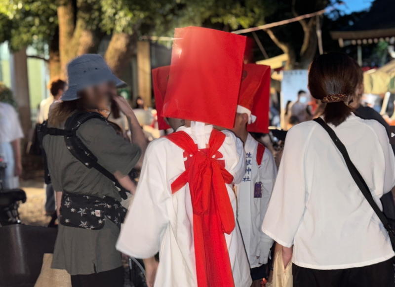
M 192 128 L 180 127 L 197 143 L 201 136 L 208 143 L 212 125 L 204 127 L 199 139 Z M 218 150 L 225 168 L 240 182 L 245 169 L 243 145 L 230 131 Z M 149 258 L 159 251 L 156 287 L 197 287 L 193 211 L 189 185 L 172 194 L 171 183 L 185 171 L 184 151 L 166 138 L 153 141 L 147 148 L 140 180 L 117 243 L 117 249 L 136 258 Z M 221 160 L 221 159 L 220 159 Z M 236 219 L 237 200 L 227 184 Z M 236 224 L 225 234 L 233 269 L 235 287 L 252 283 L 247 255 Z

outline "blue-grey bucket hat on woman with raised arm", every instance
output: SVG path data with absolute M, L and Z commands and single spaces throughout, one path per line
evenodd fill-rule
M 62 101 L 77 100 L 79 91 L 103 82 L 114 82 L 117 87 L 126 85 L 114 76 L 103 57 L 97 54 L 85 54 L 71 60 L 67 64 L 67 75 L 69 87 L 63 93 Z

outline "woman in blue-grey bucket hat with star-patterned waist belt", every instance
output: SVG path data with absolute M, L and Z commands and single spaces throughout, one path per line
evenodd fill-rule
M 112 97 L 128 119 L 133 143 L 125 142 L 98 115 L 80 124 L 76 135 L 97 158 L 98 164 L 134 193 L 127 174 L 139 164 L 146 141 L 132 109 L 126 100 L 116 95 L 116 87 L 125 83 L 112 74 L 103 57 L 95 54 L 72 60 L 67 72 L 69 88 L 62 102 L 52 108 L 48 126 L 62 129 L 76 112 L 104 116 L 107 101 Z M 126 210 L 119 203 L 121 196 L 117 187 L 98 170 L 87 168 L 75 158 L 70 151 L 73 147 L 66 145 L 63 136 L 45 135 L 43 147 L 60 213 L 52 268 L 66 269 L 73 287 L 123 286 L 121 254 L 115 245 L 119 221 Z

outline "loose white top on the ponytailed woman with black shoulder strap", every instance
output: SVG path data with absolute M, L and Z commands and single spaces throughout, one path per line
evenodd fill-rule
M 395 186 L 395 157 L 385 128 L 354 114 L 331 127 L 381 207 L 381 196 Z M 313 121 L 288 131 L 262 229 L 279 244 L 294 245 L 292 262 L 306 268 L 361 267 L 395 255 L 341 153 Z

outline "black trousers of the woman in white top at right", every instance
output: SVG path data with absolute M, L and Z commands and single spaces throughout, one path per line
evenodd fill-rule
M 395 287 L 393 259 L 337 270 L 292 265 L 293 287 Z

